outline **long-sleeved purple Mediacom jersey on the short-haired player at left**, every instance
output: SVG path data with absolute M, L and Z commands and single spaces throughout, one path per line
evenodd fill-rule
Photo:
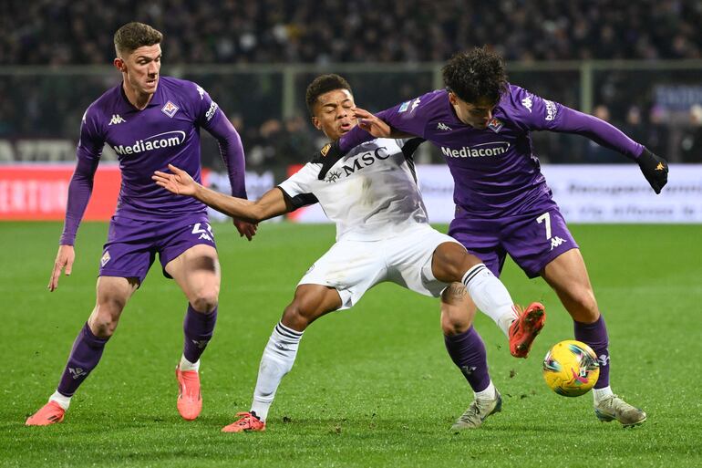
M 160 77 L 156 92 L 141 110 L 129 103 L 121 84 L 93 102 L 80 127 L 77 168 L 69 185 L 60 243 L 74 242 L 105 143 L 118 154 L 122 173 L 115 215 L 148 221 L 186 216 L 206 220 L 203 203 L 174 195 L 151 180 L 154 171 L 168 171 L 170 163 L 201 182 L 200 128 L 220 142 L 232 194 L 246 198 L 241 139 L 217 103 L 195 83 Z

